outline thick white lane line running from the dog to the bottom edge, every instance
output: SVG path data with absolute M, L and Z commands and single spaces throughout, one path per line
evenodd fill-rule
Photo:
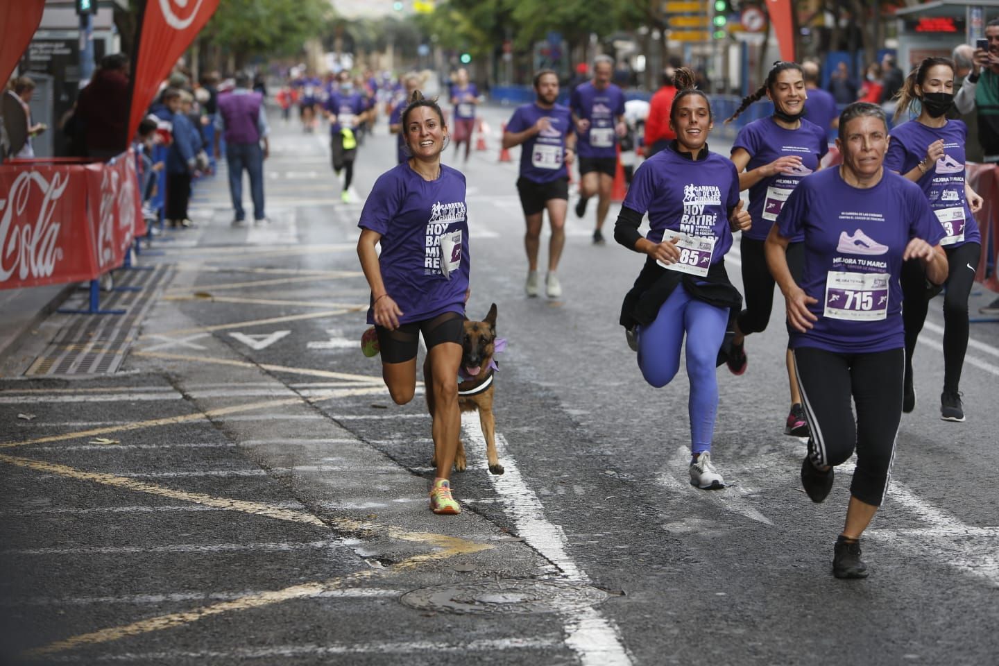
M 479 414 L 467 411 L 462 414 L 465 444 L 470 450 L 475 466 L 485 466 L 486 438 L 479 422 Z M 496 433 L 497 453 L 504 468 L 502 474 L 490 474 L 494 490 L 506 516 L 515 526 L 516 533 L 531 548 L 543 555 L 561 571 L 563 578 L 588 584 L 589 577 L 579 569 L 568 554 L 568 541 L 561 527 L 544 517 L 544 507 L 534 491 L 527 486 L 506 448 L 506 440 Z M 472 466 L 472 465 L 470 465 Z M 461 500 L 461 495 L 459 495 Z M 620 640 L 620 632 L 599 611 L 588 608 L 562 616 L 565 623 L 565 644 L 579 657 L 583 666 L 623 666 L 631 659 Z

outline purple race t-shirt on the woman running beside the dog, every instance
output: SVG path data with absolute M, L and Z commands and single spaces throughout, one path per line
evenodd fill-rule
M 365 201 L 358 227 L 382 235 L 379 266 L 386 292 L 403 311 L 401 324 L 465 314 L 472 258 L 462 172 L 441 165 L 441 176 L 425 181 L 408 163 L 387 171 Z M 375 323 L 371 308 L 368 323 Z

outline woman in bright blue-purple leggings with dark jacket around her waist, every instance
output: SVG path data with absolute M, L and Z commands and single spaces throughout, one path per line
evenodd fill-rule
M 690 483 L 715 489 L 725 481 L 711 463 L 718 409 L 714 368 L 730 314 L 742 305 L 724 256 L 732 230 L 749 229 L 750 218 L 739 201 L 735 166 L 708 151 L 713 117 L 707 97 L 693 87 L 689 69 L 677 69 L 673 80 L 677 93 L 669 125 L 676 139 L 635 172 L 614 225 L 617 243 L 648 256 L 624 297 L 620 323 L 638 351 L 642 376 L 657 388 L 676 375 L 686 336 Z M 646 212 L 649 231 L 642 237 L 638 227 Z

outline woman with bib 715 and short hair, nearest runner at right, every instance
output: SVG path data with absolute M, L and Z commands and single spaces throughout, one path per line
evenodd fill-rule
M 813 502 L 824 501 L 833 468 L 856 449 L 832 572 L 864 578 L 860 536 L 887 493 L 902 416 L 902 264 L 920 262 L 939 285 L 947 278 L 947 256 L 925 195 L 883 167 L 888 127 L 880 106 L 848 106 L 836 147 L 843 164 L 804 178 L 791 192 L 766 239 L 766 259 L 784 295 L 811 431 L 801 485 Z M 799 283 L 788 268 L 787 247 L 801 236 Z

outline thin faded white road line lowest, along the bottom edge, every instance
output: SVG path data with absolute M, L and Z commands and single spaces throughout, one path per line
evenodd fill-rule
M 355 643 L 310 645 L 275 645 L 273 647 L 234 648 L 232 650 L 204 650 L 193 652 L 188 650 L 171 650 L 164 652 L 127 652 L 122 654 L 101 654 L 96 656 L 81 655 L 46 655 L 50 663 L 94 663 L 103 661 L 131 661 L 140 664 L 172 663 L 179 660 L 193 659 L 202 663 L 213 663 L 219 659 L 278 659 L 298 656 L 327 656 L 340 654 L 399 654 L 413 655 L 434 652 L 493 653 L 500 650 L 546 650 L 560 646 L 560 636 L 541 636 L 537 638 L 484 638 L 458 643 L 443 641 L 407 641 L 397 643 Z M 273 662 L 272 662 L 273 663 Z M 609 662 L 605 662 L 609 663 Z

